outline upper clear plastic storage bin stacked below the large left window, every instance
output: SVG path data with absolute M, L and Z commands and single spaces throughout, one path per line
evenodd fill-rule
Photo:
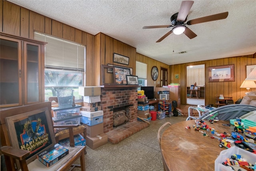
M 74 107 L 52 107 L 53 117 L 56 119 L 64 119 L 71 116 L 76 116 L 80 114 L 81 105 L 76 105 Z

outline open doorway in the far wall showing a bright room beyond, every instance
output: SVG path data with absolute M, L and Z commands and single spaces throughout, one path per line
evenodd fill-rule
M 205 105 L 205 66 L 187 66 L 187 98 L 188 105 Z

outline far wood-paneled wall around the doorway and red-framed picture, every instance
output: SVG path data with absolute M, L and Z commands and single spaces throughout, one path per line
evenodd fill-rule
M 171 76 L 171 82 L 178 82 L 181 85 L 181 104 L 186 104 L 186 67 L 190 65 L 205 64 L 205 104 L 215 104 L 215 97 L 223 94 L 224 96 L 233 97 L 234 101 L 243 97 L 247 91 L 245 88 L 240 88 L 240 85 L 246 78 L 246 65 L 255 65 L 256 58 L 253 55 L 221 58 L 215 60 L 206 60 L 200 62 L 191 62 L 170 66 L 170 71 L 180 73 L 180 79 L 174 79 L 173 74 Z M 222 66 L 234 64 L 234 82 L 209 82 L 208 67 Z M 250 91 L 256 91 L 255 88 Z

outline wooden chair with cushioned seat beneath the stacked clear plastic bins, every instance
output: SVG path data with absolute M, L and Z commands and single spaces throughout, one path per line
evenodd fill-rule
M 73 96 L 73 102 L 74 102 L 75 96 Z M 58 103 L 57 97 L 49 97 L 49 101 L 55 101 Z M 62 129 L 61 131 L 58 131 L 55 133 L 55 139 L 56 143 L 58 143 L 60 140 L 68 138 L 68 137 L 74 137 L 74 135 L 82 134 L 83 137 L 86 139 L 86 127 L 84 125 L 77 124 L 75 127 L 74 125 L 68 126 L 68 125 L 53 125 L 54 128 L 67 128 Z M 72 130 L 72 131 L 71 131 Z M 70 146 L 74 147 L 74 139 L 70 139 Z M 86 153 L 86 151 L 84 151 Z

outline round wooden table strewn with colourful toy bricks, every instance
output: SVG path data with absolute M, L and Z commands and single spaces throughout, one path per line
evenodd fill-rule
M 207 125 L 215 128 L 218 133 L 230 133 L 234 127 L 224 126 L 222 123 L 228 121 L 218 121 Z M 190 125 L 191 129 L 185 127 Z M 168 127 L 162 135 L 162 154 L 168 168 L 172 171 L 214 171 L 214 161 L 220 151 L 226 149 L 218 146 L 218 139 L 210 138 L 213 134 L 206 131 L 210 137 L 204 137 L 199 131 L 193 129 L 195 120 L 188 120 L 175 123 Z M 202 129 L 200 129 L 202 130 Z M 202 130 L 204 131 L 204 130 Z

